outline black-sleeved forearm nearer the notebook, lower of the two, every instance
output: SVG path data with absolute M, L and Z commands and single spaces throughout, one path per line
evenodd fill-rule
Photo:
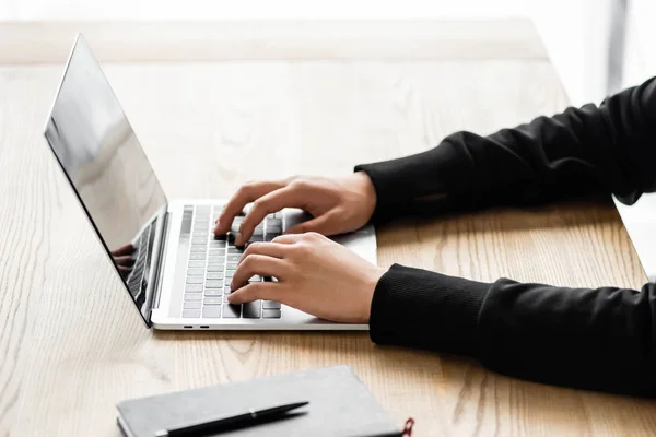
M 573 290 L 492 284 L 393 267 L 372 303 L 380 344 L 466 354 L 513 377 L 656 394 L 656 285 Z

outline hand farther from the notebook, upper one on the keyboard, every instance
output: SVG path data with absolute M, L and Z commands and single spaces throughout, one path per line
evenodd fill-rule
M 216 221 L 214 235 L 230 231 L 233 220 L 246 204 L 254 202 L 235 239 L 243 246 L 255 227 L 283 208 L 301 208 L 314 218 L 285 231 L 285 234 L 317 232 L 337 235 L 364 226 L 376 208 L 376 191 L 364 172 L 342 178 L 291 177 L 280 181 L 250 182 L 237 190 Z

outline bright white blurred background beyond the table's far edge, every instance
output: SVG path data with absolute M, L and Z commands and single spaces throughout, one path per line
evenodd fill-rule
M 529 17 L 573 105 L 656 71 L 654 0 L 0 0 L 0 20 L 394 20 Z

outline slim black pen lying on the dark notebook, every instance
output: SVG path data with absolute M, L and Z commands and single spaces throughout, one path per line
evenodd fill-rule
M 258 411 L 250 409 L 248 413 L 238 414 L 236 416 L 197 422 L 178 428 L 160 429 L 155 433 L 155 437 L 197 437 L 208 433 L 221 433 L 226 429 L 245 428 L 257 423 L 259 420 L 281 416 L 289 411 L 300 409 L 308 403 L 309 402 L 288 403 Z

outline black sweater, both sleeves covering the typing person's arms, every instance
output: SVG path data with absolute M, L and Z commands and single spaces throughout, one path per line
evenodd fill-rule
M 656 190 L 656 78 L 599 107 L 485 138 L 457 132 L 427 152 L 355 169 L 374 184 L 375 223 L 590 192 L 633 203 Z M 395 264 L 376 286 L 370 329 L 376 343 L 466 354 L 509 376 L 656 394 L 656 284 L 488 284 Z

